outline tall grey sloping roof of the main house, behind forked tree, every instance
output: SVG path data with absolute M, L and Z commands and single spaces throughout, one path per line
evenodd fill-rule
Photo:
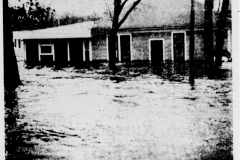
M 143 0 L 120 29 L 186 28 L 190 27 L 191 0 Z M 195 25 L 204 24 L 204 5 L 195 3 Z M 109 28 L 111 21 L 103 19 L 95 28 Z

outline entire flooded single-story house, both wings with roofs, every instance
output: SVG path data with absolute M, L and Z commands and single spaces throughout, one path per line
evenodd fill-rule
M 190 8 L 190 0 L 161 3 L 151 0 L 139 6 L 118 32 L 118 61 L 161 63 L 188 60 Z M 196 2 L 195 11 L 195 59 L 203 60 L 204 5 Z M 79 65 L 84 61 L 109 60 L 110 27 L 111 21 L 105 18 L 96 22 L 15 32 L 14 37 L 23 40 L 24 59 L 28 65 L 52 62 Z M 231 52 L 230 27 L 226 33 L 225 48 Z

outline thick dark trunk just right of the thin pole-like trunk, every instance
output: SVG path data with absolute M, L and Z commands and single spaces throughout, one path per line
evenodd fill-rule
M 214 77 L 213 2 L 214 0 L 205 0 L 204 12 L 204 52 L 208 78 Z

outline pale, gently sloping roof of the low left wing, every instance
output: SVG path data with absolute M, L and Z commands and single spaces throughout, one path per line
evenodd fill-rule
M 13 37 L 14 39 L 90 38 L 93 25 L 94 22 L 91 21 L 32 31 L 15 31 Z

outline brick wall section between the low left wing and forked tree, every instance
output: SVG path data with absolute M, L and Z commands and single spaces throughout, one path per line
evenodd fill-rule
M 95 35 L 92 38 L 92 59 L 107 59 L 107 42 L 106 35 Z

